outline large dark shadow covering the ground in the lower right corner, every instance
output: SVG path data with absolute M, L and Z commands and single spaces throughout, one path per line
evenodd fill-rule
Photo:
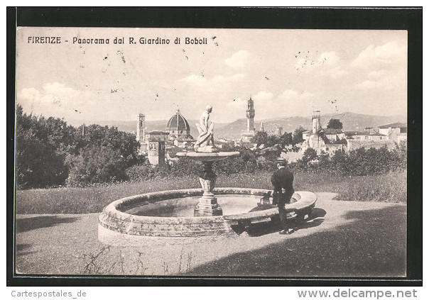
M 323 214 L 323 211 L 315 211 Z M 350 211 L 342 225 L 205 263 L 200 276 L 403 277 L 406 206 Z M 315 218 L 305 224 L 320 220 Z M 273 229 L 273 228 L 272 228 Z M 300 228 L 298 227 L 298 232 Z

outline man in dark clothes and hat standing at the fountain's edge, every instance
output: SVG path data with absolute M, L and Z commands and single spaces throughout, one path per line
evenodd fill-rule
M 285 204 L 290 204 L 290 198 L 295 192 L 293 189 L 293 174 L 286 167 L 286 160 L 279 158 L 277 160 L 277 171 L 271 176 L 271 184 L 274 187 L 273 204 L 278 206 L 278 215 L 283 226 L 280 234 L 293 233 L 293 228 L 289 228 L 289 222 L 287 219 L 288 210 L 286 210 Z

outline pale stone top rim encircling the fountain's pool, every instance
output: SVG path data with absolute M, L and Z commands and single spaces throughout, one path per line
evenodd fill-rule
M 263 196 L 269 189 L 247 189 L 247 188 L 236 188 L 236 187 L 219 187 L 215 188 L 214 192 L 217 195 L 222 194 L 232 194 L 232 195 L 254 195 L 254 196 Z M 273 206 L 272 209 L 266 209 L 264 211 L 252 211 L 246 213 L 237 213 L 233 215 L 226 216 L 197 216 L 197 217 L 161 217 L 161 216 L 137 216 L 131 213 L 125 213 L 124 211 L 119 210 L 119 206 L 125 205 L 129 203 L 129 209 L 141 206 L 146 204 L 156 203 L 158 201 L 165 201 L 169 199 L 178 199 L 192 196 L 201 196 L 201 189 L 177 189 L 177 190 L 168 190 L 168 191 L 156 191 L 152 193 L 139 194 L 134 196 L 129 196 L 125 198 L 121 198 L 113 201 L 104 207 L 102 214 L 107 214 L 109 216 L 114 216 L 115 218 L 119 218 L 121 220 L 132 220 L 132 221 L 164 221 L 165 223 L 169 222 L 192 222 L 199 223 L 198 221 L 207 221 L 207 220 L 219 220 L 219 221 L 232 221 L 232 220 L 245 220 L 250 218 L 262 218 L 273 216 L 278 213 L 278 209 L 276 206 Z M 295 199 L 298 201 L 293 204 L 288 204 L 286 206 L 287 209 L 291 211 L 300 211 L 304 209 L 308 209 L 310 206 L 315 206 L 315 202 L 317 201 L 317 196 L 310 191 L 296 191 L 293 194 Z M 133 203 L 135 204 L 133 205 Z M 128 209 L 128 208 L 127 208 Z

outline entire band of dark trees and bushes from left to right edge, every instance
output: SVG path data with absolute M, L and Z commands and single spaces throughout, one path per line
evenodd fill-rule
M 171 165 L 152 167 L 137 155 L 135 136 L 117 128 L 91 125 L 67 126 L 59 118 L 26 115 L 16 109 L 16 182 L 20 188 L 53 187 L 63 184 L 85 186 L 102 182 L 146 181 L 158 178 L 195 177 L 202 164 L 180 158 Z M 217 174 L 254 174 L 273 172 L 276 159 L 286 145 L 300 140 L 304 128 L 293 134 L 256 133 L 254 142 L 264 150 L 227 145 L 224 150 L 239 151 L 237 157 L 215 162 Z M 82 132 L 85 134 L 82 135 Z M 308 148 L 302 159 L 289 164 L 295 173 L 335 176 L 373 176 L 406 170 L 407 149 L 401 143 L 395 150 L 364 148 L 333 155 Z

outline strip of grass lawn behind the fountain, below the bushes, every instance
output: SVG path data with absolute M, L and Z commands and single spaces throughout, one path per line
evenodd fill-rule
M 272 189 L 270 172 L 220 174 L 217 187 Z M 334 192 L 342 201 L 406 202 L 406 172 L 368 177 L 295 174 L 296 191 Z M 126 196 L 170 189 L 200 188 L 195 177 L 160 178 L 144 182 L 103 184 L 16 191 L 16 213 L 98 213 L 110 202 Z

